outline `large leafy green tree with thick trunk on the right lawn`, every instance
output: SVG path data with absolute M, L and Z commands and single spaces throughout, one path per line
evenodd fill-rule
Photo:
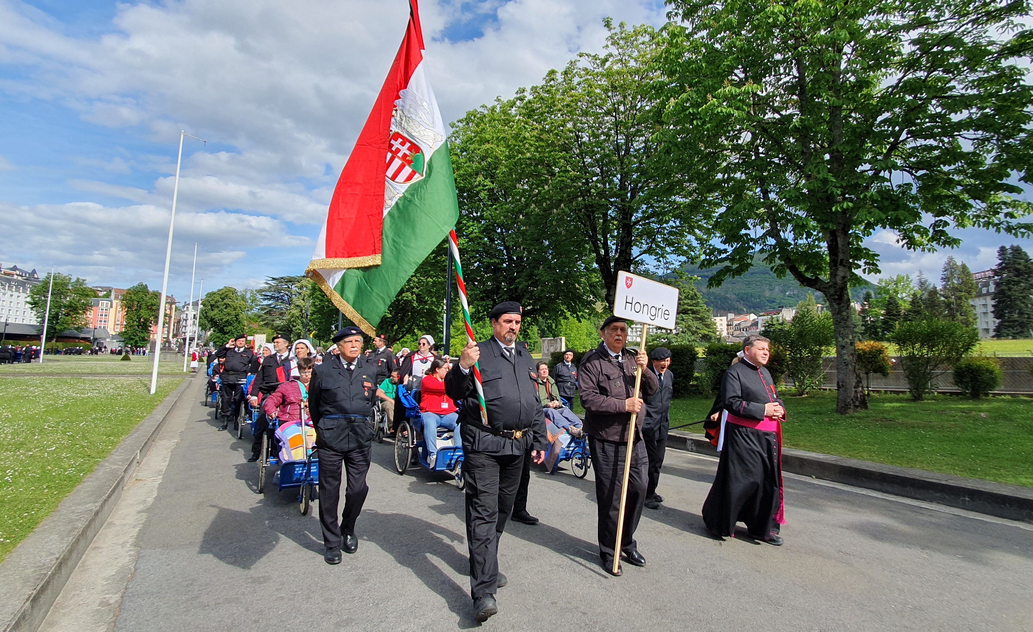
M 661 59 L 674 163 L 723 206 L 712 279 L 759 251 L 820 291 L 835 323 L 837 411 L 867 408 L 851 284 L 865 240 L 954 247 L 952 228 L 1024 232 L 1033 88 L 1029 3 L 1000 0 L 671 0 Z M 698 173 L 692 169 L 693 173 Z M 700 203 L 705 203 L 701 201 Z

